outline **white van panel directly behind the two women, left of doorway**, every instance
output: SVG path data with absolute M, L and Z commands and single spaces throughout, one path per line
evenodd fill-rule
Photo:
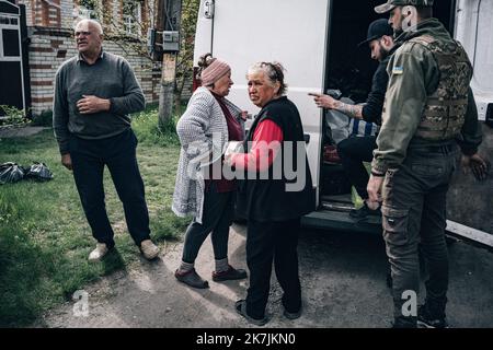
M 210 31 L 213 56 L 228 61 L 234 85 L 228 96 L 252 115 L 245 73 L 257 61 L 279 61 L 286 68 L 287 96 L 297 105 L 305 127 L 313 184 L 319 184 L 322 117 L 308 92 L 322 92 L 326 52 L 329 0 L 215 0 L 214 15 L 203 0 L 198 25 Z M 197 27 L 202 48 L 207 48 Z M 200 48 L 199 48 L 200 49 Z M 205 52 L 195 50 L 195 62 Z

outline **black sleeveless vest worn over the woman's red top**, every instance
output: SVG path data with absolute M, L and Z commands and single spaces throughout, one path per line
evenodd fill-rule
M 251 142 L 249 141 L 253 140 L 257 125 L 265 119 L 273 120 L 283 130 L 284 140 L 280 152 L 266 172 L 245 174 L 246 179 L 240 183 L 238 190 L 238 211 L 245 219 L 260 222 L 300 218 L 316 209 L 316 197 L 298 108 L 285 96 L 267 103 L 250 128 L 245 140 L 245 152 L 250 152 Z M 294 141 L 293 148 L 289 148 L 286 141 Z M 299 149 L 300 147 L 302 150 Z M 297 155 L 303 159 L 297 162 Z M 285 166 L 288 156 L 293 162 Z M 302 168 L 298 170 L 298 163 L 302 164 Z M 285 167 L 288 172 L 296 174 L 296 177 L 289 176 Z M 275 170 L 280 171 L 277 173 Z M 290 190 L 290 186 L 295 184 L 298 190 Z

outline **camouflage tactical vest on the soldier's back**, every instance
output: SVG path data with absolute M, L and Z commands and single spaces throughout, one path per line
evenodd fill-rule
M 431 36 L 409 40 L 426 47 L 440 71 L 438 88 L 427 96 L 415 136 L 425 140 L 449 140 L 462 128 L 468 107 L 472 66 L 458 42 L 442 43 Z

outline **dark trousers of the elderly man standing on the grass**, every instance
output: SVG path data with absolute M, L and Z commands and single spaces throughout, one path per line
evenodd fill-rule
M 92 235 L 100 243 L 114 246 L 113 230 L 106 214 L 103 173 L 107 166 L 123 202 L 127 228 L 137 245 L 149 238 L 149 213 L 144 182 L 136 158 L 137 138 L 131 129 L 115 137 L 85 140 L 70 137 L 73 178 Z

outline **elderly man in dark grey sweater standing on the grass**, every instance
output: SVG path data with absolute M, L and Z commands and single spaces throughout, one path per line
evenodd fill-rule
M 100 260 L 115 245 L 104 202 L 106 165 L 123 202 L 128 231 L 148 259 L 159 249 L 150 240 L 144 182 L 136 159 L 137 138 L 129 114 L 142 110 L 144 93 L 128 62 L 103 51 L 103 30 L 92 20 L 76 26 L 78 56 L 57 71 L 54 130 L 61 163 L 73 171 L 92 234 L 89 260 Z

